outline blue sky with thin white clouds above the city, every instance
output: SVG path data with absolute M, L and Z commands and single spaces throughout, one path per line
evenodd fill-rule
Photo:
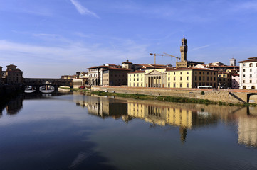
M 0 66 L 61 77 L 111 63 L 154 63 L 150 52 L 224 62 L 257 56 L 257 1 L 0 0 Z M 157 57 L 157 64 L 175 64 Z

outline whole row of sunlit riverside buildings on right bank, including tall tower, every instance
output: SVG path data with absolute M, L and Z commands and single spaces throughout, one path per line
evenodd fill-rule
M 122 65 L 103 64 L 88 68 L 88 72 L 77 72 L 73 76 L 66 75 L 62 78 L 73 79 L 75 88 L 84 85 L 159 88 L 211 86 L 224 89 L 257 87 L 257 57 L 239 62 L 240 67 L 236 66 L 234 58 L 230 59 L 229 65 L 189 61 L 186 38 L 182 38 L 180 52 L 181 61 L 176 63 L 176 68 L 171 64 L 133 64 L 126 60 Z

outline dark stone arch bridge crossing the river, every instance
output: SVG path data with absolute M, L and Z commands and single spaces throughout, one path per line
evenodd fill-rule
M 40 86 L 51 85 L 55 91 L 59 86 L 73 87 L 73 79 L 52 79 L 52 78 L 24 78 L 23 86 L 34 86 L 39 91 Z

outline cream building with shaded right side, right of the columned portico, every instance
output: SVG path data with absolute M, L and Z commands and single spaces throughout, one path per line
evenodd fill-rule
M 168 69 L 167 87 L 197 88 L 198 86 L 218 86 L 216 70 L 201 68 Z

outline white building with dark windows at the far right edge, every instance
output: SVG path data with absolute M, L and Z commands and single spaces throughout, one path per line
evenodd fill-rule
M 250 57 L 240 63 L 239 89 L 256 89 L 257 57 Z

